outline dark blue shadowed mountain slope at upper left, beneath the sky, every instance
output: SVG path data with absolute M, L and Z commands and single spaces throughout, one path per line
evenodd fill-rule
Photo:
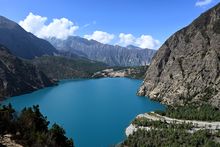
M 3 16 L 0 16 L 0 44 L 9 48 L 12 54 L 26 59 L 57 52 L 48 41 L 26 32 L 17 23 Z

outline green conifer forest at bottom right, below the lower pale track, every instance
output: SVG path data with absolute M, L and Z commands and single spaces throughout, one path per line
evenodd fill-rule
M 181 129 L 138 130 L 130 135 L 121 146 L 124 147 L 219 147 L 213 135 L 206 130 L 188 133 Z

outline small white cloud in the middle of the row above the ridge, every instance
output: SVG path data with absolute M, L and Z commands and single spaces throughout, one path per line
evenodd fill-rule
M 110 43 L 114 39 L 114 37 L 115 36 L 113 34 L 109 34 L 107 32 L 102 32 L 102 31 L 95 31 L 91 35 L 84 35 L 84 38 L 88 40 L 93 39 L 105 44 Z

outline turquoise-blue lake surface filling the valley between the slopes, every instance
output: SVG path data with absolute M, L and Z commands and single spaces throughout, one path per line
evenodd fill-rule
M 136 115 L 164 109 L 136 96 L 140 84 L 127 78 L 65 80 L 4 103 L 12 103 L 18 111 L 39 104 L 51 124 L 61 125 L 76 147 L 108 147 L 125 138 L 125 129 Z

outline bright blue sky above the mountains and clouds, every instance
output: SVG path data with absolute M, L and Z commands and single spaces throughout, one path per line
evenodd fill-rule
M 127 45 L 123 41 L 130 38 L 128 43 L 133 40 L 141 47 L 144 39 L 158 40 L 162 44 L 218 2 L 220 0 L 0 0 L 0 15 L 19 23 L 32 12 L 34 16 L 47 17 L 44 25 L 53 22 L 54 18 L 64 17 L 78 27 L 70 34 L 74 32 L 88 39 L 110 34 L 113 36 L 102 41 L 117 44 L 122 33 L 121 45 Z M 100 32 L 94 35 L 95 31 Z

